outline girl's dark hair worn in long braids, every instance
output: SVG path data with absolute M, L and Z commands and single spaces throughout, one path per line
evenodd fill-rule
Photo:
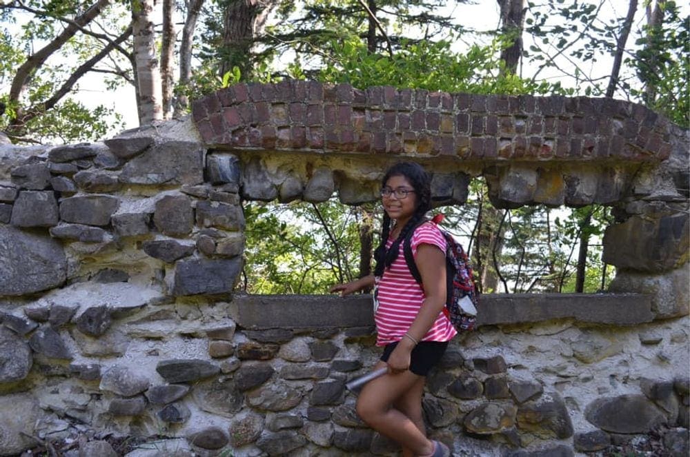
M 379 246 L 374 251 L 374 258 L 376 261 L 376 268 L 374 270 L 375 276 L 382 276 L 386 267 L 391 267 L 393 261 L 397 258 L 398 250 L 400 250 L 400 243 L 405 239 L 411 230 L 414 230 L 417 225 L 424 221 L 424 216 L 428 210 L 431 210 L 431 178 L 426 173 L 422 165 L 414 162 L 399 162 L 388 168 L 381 183 L 384 187 L 393 176 L 403 176 L 412 185 L 415 190 L 417 198 L 415 212 L 410 220 L 406 223 L 400 234 L 397 236 L 391 249 L 386 250 L 386 240 L 391 234 L 391 218 L 388 213 L 384 211 L 384 220 L 381 227 L 381 241 Z M 408 197 L 409 198 L 409 197 Z

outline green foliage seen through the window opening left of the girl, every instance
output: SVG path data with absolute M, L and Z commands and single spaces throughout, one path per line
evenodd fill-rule
M 331 285 L 356 277 L 358 208 L 331 200 L 247 203 L 244 212 L 246 292 L 324 294 Z

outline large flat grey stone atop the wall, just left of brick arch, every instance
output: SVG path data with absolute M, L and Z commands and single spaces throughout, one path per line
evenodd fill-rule
M 191 141 L 153 145 L 131 159 L 119 179 L 130 184 L 199 184 L 204 182 L 204 148 Z

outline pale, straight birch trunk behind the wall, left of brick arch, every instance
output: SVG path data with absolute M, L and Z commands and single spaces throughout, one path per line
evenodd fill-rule
M 156 57 L 154 0 L 132 0 L 132 30 L 139 86 L 139 124 L 163 119 L 161 72 Z

